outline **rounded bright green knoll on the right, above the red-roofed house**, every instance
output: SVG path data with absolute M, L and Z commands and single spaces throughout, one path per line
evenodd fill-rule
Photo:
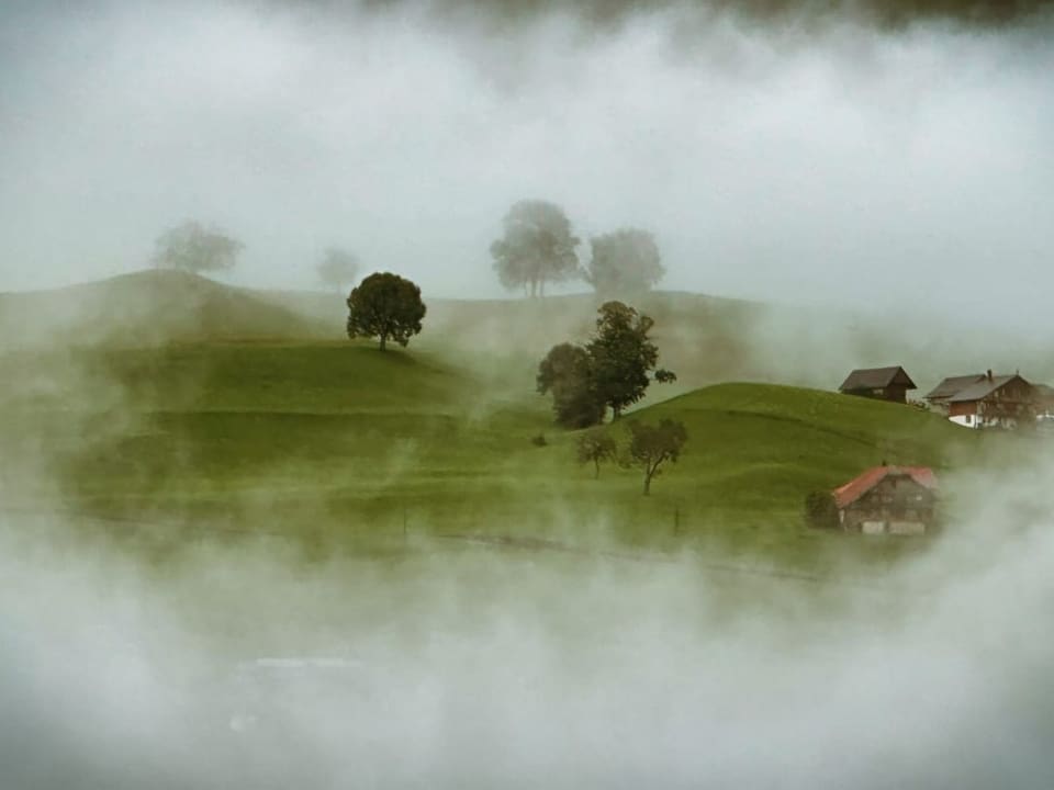
M 767 384 L 707 387 L 633 417 L 687 426 L 693 441 L 676 474 L 694 479 L 691 498 L 700 510 L 760 518 L 789 519 L 805 493 L 882 463 L 969 462 L 984 439 L 920 409 Z

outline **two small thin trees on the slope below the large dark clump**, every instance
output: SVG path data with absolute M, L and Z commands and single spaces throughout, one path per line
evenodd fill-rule
M 676 463 L 688 441 L 688 431 L 683 422 L 663 419 L 658 425 L 631 421 L 629 442 L 619 449 L 618 441 L 609 431 L 593 428 L 583 432 L 578 441 L 579 463 L 592 463 L 594 476 L 601 476 L 601 464 L 616 463 L 635 466 L 644 475 L 644 496 L 651 493 L 651 481 L 661 473 L 666 462 Z

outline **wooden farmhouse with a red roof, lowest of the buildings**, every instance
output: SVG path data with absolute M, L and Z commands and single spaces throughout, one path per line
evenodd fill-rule
M 935 523 L 937 476 L 926 466 L 875 466 L 833 495 L 850 532 L 921 534 Z

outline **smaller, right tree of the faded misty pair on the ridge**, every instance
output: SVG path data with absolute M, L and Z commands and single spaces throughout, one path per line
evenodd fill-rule
M 598 294 L 648 291 L 666 273 L 655 237 L 648 230 L 621 228 L 594 236 L 590 246 L 593 255 L 583 275 Z

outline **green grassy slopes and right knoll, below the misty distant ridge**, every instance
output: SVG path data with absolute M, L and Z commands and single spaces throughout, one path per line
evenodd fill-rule
M 21 382 L 0 419 L 20 459 L 8 503 L 369 551 L 482 534 L 720 546 L 814 567 L 862 550 L 803 526 L 807 492 L 883 460 L 971 463 L 993 439 L 910 407 L 724 384 L 631 415 L 689 432 L 644 498 L 636 471 L 594 481 L 579 466 L 576 435 L 551 427 L 545 398 L 495 395 L 426 351 L 212 342 L 9 354 L 0 369 Z

